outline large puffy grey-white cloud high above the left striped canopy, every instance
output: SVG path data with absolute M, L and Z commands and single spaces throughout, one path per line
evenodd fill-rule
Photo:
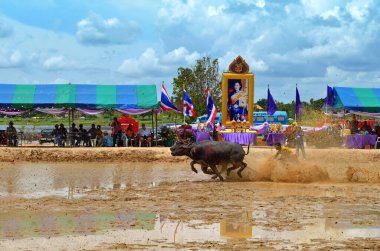
M 135 41 L 139 28 L 134 22 L 121 22 L 118 18 L 104 19 L 97 14 L 77 23 L 77 39 L 88 45 L 129 44 Z

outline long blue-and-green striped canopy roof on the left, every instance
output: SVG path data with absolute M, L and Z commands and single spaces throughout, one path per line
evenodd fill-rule
M 0 108 L 156 109 L 156 85 L 0 84 Z

